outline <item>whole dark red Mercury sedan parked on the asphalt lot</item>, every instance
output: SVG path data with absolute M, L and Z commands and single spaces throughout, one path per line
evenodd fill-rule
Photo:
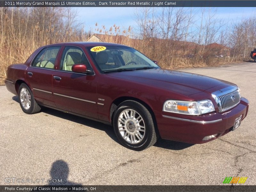
M 37 49 L 8 67 L 6 88 L 25 113 L 41 106 L 113 124 L 127 148 L 158 137 L 205 143 L 234 131 L 249 102 L 232 83 L 161 69 L 137 50 L 109 43 L 63 43 Z

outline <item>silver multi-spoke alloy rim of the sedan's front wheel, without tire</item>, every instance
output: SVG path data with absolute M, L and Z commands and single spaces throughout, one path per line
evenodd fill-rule
M 133 109 L 124 109 L 118 117 L 117 124 L 123 139 L 129 143 L 139 143 L 145 136 L 144 120 Z

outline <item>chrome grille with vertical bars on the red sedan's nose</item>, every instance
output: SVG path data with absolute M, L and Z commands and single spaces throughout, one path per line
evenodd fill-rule
M 235 107 L 240 102 L 240 94 L 238 90 L 218 97 L 221 102 L 222 111 L 227 111 Z

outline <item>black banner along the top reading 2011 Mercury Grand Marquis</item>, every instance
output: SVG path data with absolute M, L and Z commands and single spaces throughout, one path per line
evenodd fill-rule
M 94 1 L 94 0 L 80 0 L 80 1 L 17 1 L 17 0 L 0 0 L 1 7 L 256 7 L 256 1 L 242 1 L 242 0 L 203 0 L 203 1 L 152 1 L 152 0 L 137 0 L 137 1 Z

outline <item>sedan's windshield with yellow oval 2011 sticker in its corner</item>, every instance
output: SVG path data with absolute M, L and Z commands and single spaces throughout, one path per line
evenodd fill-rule
M 156 63 L 131 47 L 88 47 L 94 63 L 103 72 L 159 68 Z

